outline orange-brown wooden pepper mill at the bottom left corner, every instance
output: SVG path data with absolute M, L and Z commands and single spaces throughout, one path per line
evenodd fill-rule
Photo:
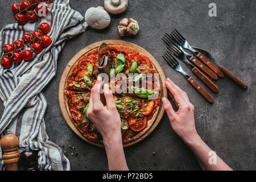
M 7 129 L 7 134 L 1 139 L 1 147 L 3 148 L 3 163 L 5 163 L 6 171 L 19 171 L 19 139 L 16 135 L 11 134 Z

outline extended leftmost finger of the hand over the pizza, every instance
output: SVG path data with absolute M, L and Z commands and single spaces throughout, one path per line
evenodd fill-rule
M 104 106 L 101 102 L 101 97 L 100 97 L 101 84 L 102 84 L 102 78 L 98 76 L 97 81 L 91 90 L 91 96 L 90 96 L 92 97 L 92 103 L 93 103 L 92 106 L 94 110 L 100 109 L 101 107 Z

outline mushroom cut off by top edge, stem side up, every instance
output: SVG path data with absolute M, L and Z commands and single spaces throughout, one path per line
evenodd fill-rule
M 123 13 L 127 6 L 128 0 L 104 0 L 104 7 L 110 14 Z

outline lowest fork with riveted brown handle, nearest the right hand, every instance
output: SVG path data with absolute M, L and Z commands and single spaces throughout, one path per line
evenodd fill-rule
M 171 68 L 175 69 L 175 71 L 177 72 L 180 72 L 208 102 L 214 102 L 213 97 L 210 96 L 210 94 L 192 76 L 188 75 L 183 71 L 180 63 L 174 58 L 174 56 L 171 55 L 170 52 L 166 52 L 163 55 L 163 59 L 167 61 Z

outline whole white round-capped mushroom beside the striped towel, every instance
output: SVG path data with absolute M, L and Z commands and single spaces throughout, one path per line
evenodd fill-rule
M 110 16 L 103 7 L 90 7 L 85 12 L 86 23 L 95 29 L 103 29 L 109 26 Z

